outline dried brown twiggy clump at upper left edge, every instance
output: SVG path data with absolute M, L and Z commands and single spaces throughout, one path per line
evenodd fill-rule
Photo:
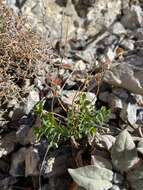
M 0 3 L 0 99 L 20 98 L 26 79 L 33 79 L 38 62 L 49 60 L 49 45 L 26 27 L 20 17 Z

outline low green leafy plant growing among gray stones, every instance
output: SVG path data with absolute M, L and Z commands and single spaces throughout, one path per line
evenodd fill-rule
M 86 98 L 86 94 L 82 94 L 79 100 L 75 102 L 76 106 L 72 106 L 67 111 L 67 122 L 63 124 L 57 121 L 57 117 L 52 112 L 45 112 L 43 103 L 40 102 L 35 107 L 35 113 L 42 122 L 41 127 L 35 127 L 36 140 L 39 141 L 45 136 L 52 147 L 65 142 L 71 138 L 79 141 L 83 138 L 95 136 L 96 129 L 102 126 L 110 115 L 110 110 L 101 107 L 96 110 Z

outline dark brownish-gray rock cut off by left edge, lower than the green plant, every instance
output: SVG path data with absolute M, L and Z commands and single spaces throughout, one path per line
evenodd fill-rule
M 8 155 L 14 150 L 16 144 L 15 132 L 10 132 L 0 139 L 0 158 Z

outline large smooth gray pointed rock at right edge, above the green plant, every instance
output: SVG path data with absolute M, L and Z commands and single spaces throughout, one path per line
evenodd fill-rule
M 135 56 L 123 63 L 113 64 L 110 70 L 105 71 L 104 81 L 122 87 L 135 94 L 143 95 L 143 59 Z

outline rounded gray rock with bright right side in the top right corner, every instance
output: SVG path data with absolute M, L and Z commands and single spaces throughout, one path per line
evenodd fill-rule
M 132 5 L 123 16 L 122 23 L 127 29 L 137 29 L 141 27 L 143 21 L 143 12 L 140 6 Z

